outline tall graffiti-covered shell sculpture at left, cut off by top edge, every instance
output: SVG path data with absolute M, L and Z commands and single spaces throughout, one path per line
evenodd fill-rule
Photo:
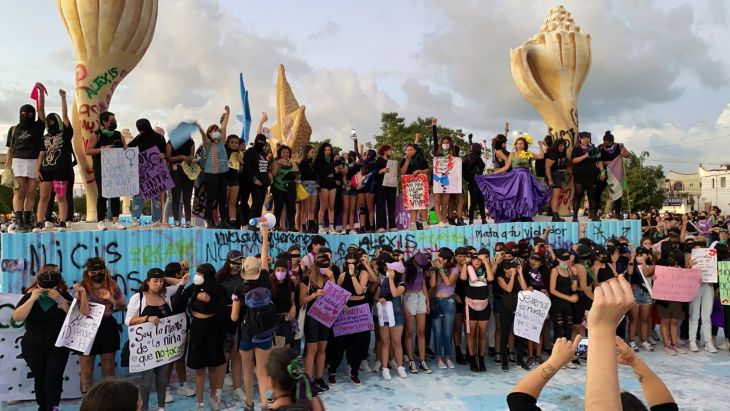
M 94 221 L 98 193 L 84 148 L 98 130 L 99 114 L 108 110 L 114 90 L 152 42 L 158 0 L 56 0 L 56 4 L 76 49 L 73 147 L 86 190 L 86 216 Z

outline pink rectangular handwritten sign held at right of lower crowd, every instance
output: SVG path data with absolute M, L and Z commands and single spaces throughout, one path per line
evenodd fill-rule
M 702 273 L 691 268 L 675 268 L 658 265 L 654 271 L 652 298 L 688 303 L 700 291 Z

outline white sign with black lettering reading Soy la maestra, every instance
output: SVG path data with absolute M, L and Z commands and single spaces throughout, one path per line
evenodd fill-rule
M 185 314 L 165 317 L 160 323 L 129 327 L 129 372 L 142 372 L 169 364 L 185 354 Z

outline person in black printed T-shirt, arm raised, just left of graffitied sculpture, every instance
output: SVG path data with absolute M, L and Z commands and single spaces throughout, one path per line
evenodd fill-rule
M 66 91 L 59 90 L 61 96 L 61 116 L 51 113 L 46 117 L 46 129 L 43 136 L 43 150 L 40 157 L 40 199 L 36 221 L 38 228 L 53 228 L 53 222 L 46 219 L 51 192 L 55 191 L 58 200 L 58 227 L 65 229 L 68 219 L 67 191 L 73 191 L 73 128 L 68 118 Z M 51 208 L 53 203 L 51 204 Z M 42 221 L 45 220 L 45 224 Z M 43 224 L 43 225 L 42 225 Z

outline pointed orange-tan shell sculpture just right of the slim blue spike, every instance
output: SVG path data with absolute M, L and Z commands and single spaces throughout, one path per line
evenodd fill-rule
M 312 127 L 304 114 L 289 82 L 286 80 L 284 65 L 279 64 L 279 78 L 276 81 L 276 124 L 271 128 L 271 150 L 276 152 L 279 144 L 286 144 L 293 156 L 301 156 L 300 151 L 312 137 Z

